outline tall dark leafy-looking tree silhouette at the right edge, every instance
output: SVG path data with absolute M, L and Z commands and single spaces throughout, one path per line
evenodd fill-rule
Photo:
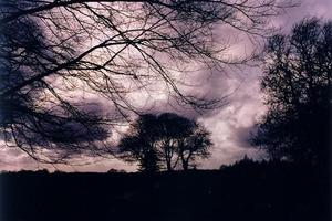
M 261 82 L 269 107 L 252 138 L 272 159 L 326 164 L 331 149 L 332 21 L 305 19 L 269 40 Z

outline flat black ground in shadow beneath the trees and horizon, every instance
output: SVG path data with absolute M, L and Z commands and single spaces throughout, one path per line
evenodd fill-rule
M 0 175 L 1 221 L 330 221 L 320 170 L 243 162 L 221 170 Z

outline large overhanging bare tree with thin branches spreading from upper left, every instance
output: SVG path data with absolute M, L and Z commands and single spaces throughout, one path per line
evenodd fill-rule
M 287 7 L 278 2 L 1 1 L 0 124 L 7 144 L 43 161 L 98 152 L 114 118 L 139 110 L 129 97 L 155 83 L 197 110 L 218 106 L 222 98 L 183 91 L 179 76 L 194 61 L 220 67 L 250 59 L 225 56 L 227 46 L 216 42 L 214 30 L 262 35 L 267 18 Z M 110 101 L 114 116 L 86 110 L 82 92 Z

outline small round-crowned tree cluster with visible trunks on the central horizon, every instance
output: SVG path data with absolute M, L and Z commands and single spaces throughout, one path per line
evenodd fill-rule
M 196 158 L 207 158 L 212 146 L 210 134 L 195 120 L 165 113 L 142 115 L 121 139 L 120 158 L 138 161 L 139 169 L 153 172 L 160 169 L 184 170 Z

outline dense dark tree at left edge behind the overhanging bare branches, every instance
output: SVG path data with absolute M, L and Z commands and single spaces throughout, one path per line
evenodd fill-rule
M 44 63 L 56 57 L 44 33 L 30 19 L 1 28 L 0 90 L 4 92 L 43 72 Z M 0 129 L 10 146 L 14 143 L 33 159 L 62 162 L 66 156 L 94 147 L 107 137 L 102 116 L 84 112 L 61 97 L 50 80 L 39 80 L 1 96 Z M 51 155 L 39 148 L 52 150 Z M 40 157 L 42 154 L 42 158 Z

